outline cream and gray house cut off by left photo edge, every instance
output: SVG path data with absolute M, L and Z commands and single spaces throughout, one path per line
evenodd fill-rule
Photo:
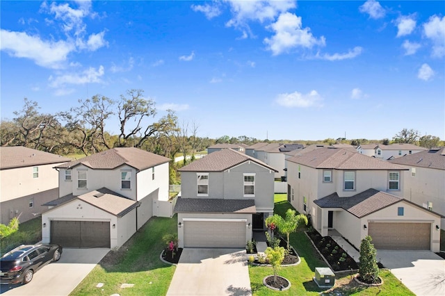
M 22 146 L 0 147 L 1 223 L 13 217 L 25 222 L 40 215 L 41 206 L 58 196 L 55 165 L 71 161 L 40 150 Z

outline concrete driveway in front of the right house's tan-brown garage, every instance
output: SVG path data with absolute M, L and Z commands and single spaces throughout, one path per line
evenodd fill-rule
M 378 250 L 377 258 L 416 295 L 445 295 L 445 260 L 434 252 Z

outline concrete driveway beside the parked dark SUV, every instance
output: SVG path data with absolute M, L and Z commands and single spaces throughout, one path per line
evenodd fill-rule
M 0 294 L 69 295 L 109 251 L 110 249 L 63 249 L 60 260 L 35 272 L 31 283 L 1 285 Z

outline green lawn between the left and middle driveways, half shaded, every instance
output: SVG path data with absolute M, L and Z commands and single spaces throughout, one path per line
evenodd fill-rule
M 162 263 L 161 238 L 177 231 L 177 216 L 153 217 L 124 246 L 112 250 L 70 295 L 165 295 L 175 266 Z M 110 258 L 111 257 L 111 258 Z M 104 283 L 96 288 L 97 283 Z M 133 288 L 120 288 L 133 283 Z

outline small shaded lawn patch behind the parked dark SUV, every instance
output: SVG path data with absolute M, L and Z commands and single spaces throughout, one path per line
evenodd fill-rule
M 19 229 L 0 240 L 0 253 L 5 254 L 19 245 L 35 244 L 42 240 L 42 217 L 19 224 Z

